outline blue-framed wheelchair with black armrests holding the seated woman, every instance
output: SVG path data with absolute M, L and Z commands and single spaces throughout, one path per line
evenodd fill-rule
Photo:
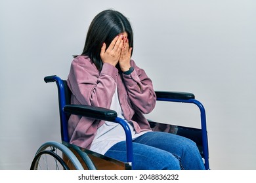
M 45 76 L 45 82 L 56 82 L 58 88 L 58 106 L 60 113 L 60 132 L 62 142 L 45 142 L 42 144 L 33 158 L 30 169 L 54 169 L 54 170 L 129 170 L 133 169 L 133 144 L 131 131 L 127 123 L 117 117 L 114 110 L 102 107 L 93 107 L 89 105 L 71 105 L 71 91 L 68 88 L 66 80 L 60 77 Z M 196 142 L 200 154 L 203 158 L 205 169 L 209 170 L 209 150 L 207 140 L 207 127 L 205 108 L 200 101 L 195 99 L 193 93 L 186 92 L 159 92 L 155 91 L 157 101 L 167 101 L 176 103 L 192 103 L 200 109 L 201 128 L 184 127 L 179 125 L 161 124 L 148 120 L 153 131 L 165 131 L 181 135 Z M 127 161 L 118 161 L 98 154 L 91 150 L 70 144 L 68 137 L 68 118 L 71 114 L 105 120 L 120 124 L 126 135 Z M 150 156 L 150 154 L 149 154 Z

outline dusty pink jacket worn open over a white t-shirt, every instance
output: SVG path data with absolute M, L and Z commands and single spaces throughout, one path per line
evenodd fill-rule
M 117 86 L 119 103 L 125 119 L 133 122 L 137 133 L 150 131 L 150 125 L 143 114 L 151 112 L 155 107 L 156 93 L 152 81 L 144 70 L 137 67 L 133 60 L 131 67 L 134 67 L 133 73 L 124 75 L 113 65 L 104 63 L 99 73 L 91 59 L 87 56 L 77 56 L 72 61 L 67 80 L 72 91 L 71 103 L 110 108 Z M 70 143 L 90 148 L 96 130 L 102 124 L 104 121 L 70 116 L 68 121 Z

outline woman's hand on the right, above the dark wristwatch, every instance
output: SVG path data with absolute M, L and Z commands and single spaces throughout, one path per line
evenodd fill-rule
M 130 60 L 132 49 L 133 48 L 129 48 L 129 40 L 125 37 L 123 39 L 123 48 L 121 49 L 121 55 L 119 58 L 119 66 L 123 72 L 128 71 L 131 67 Z

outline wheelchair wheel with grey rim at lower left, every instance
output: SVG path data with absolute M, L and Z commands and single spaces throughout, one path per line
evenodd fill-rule
M 65 160 L 63 159 L 65 157 Z M 83 166 L 64 144 L 59 142 L 46 142 L 33 158 L 31 170 L 83 170 Z

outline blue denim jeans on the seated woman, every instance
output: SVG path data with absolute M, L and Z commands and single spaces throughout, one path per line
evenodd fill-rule
M 125 141 L 112 146 L 105 156 L 125 162 Z M 133 158 L 133 169 L 137 170 L 205 169 L 195 142 L 159 131 L 145 133 L 133 141 Z

